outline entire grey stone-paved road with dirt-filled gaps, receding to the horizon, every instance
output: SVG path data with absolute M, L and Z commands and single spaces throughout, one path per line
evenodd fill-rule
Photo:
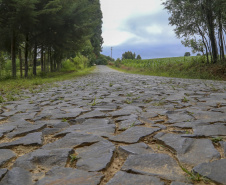
M 0 185 L 226 184 L 225 82 L 98 66 L 25 93 L 0 107 Z

